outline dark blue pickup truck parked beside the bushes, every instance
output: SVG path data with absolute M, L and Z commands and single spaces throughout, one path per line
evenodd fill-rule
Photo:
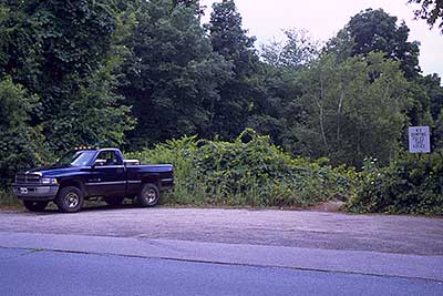
M 41 212 L 52 201 L 64 213 L 79 212 L 84 200 L 96 197 L 112 206 L 127 197 L 151 207 L 173 186 L 171 164 L 141 165 L 117 149 L 73 150 L 53 166 L 18 173 L 12 184 L 29 211 Z

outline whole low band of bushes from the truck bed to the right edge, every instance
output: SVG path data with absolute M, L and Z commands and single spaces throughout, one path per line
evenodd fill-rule
M 143 162 L 172 163 L 175 188 L 167 203 L 223 206 L 309 206 L 338 198 L 358 213 L 443 214 L 443 151 L 400 152 L 388 166 L 365 159 L 363 169 L 331 166 L 328 159 L 292 159 L 269 136 L 245 130 L 234 142 L 169 140 L 127 153 Z

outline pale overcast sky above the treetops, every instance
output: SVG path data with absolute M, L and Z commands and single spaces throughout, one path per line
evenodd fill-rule
M 213 0 L 200 0 L 207 6 L 209 19 Z M 306 29 L 318 40 L 327 41 L 348 23 L 350 18 L 367 8 L 382 8 L 391 16 L 404 20 L 411 29 L 410 40 L 421 42 L 420 67 L 423 73 L 443 74 L 443 35 L 437 28 L 430 30 L 425 21 L 413 20 L 413 8 L 408 0 L 236 0 L 244 28 L 266 43 L 275 37 L 281 40 L 282 29 Z

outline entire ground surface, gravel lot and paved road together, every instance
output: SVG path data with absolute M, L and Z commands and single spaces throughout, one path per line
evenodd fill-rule
M 443 220 L 0 212 L 0 295 L 443 295 Z

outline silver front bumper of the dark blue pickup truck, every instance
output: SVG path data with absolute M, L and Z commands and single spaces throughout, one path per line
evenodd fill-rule
M 59 192 L 59 185 L 47 184 L 12 184 L 13 193 L 20 200 L 52 201 Z

